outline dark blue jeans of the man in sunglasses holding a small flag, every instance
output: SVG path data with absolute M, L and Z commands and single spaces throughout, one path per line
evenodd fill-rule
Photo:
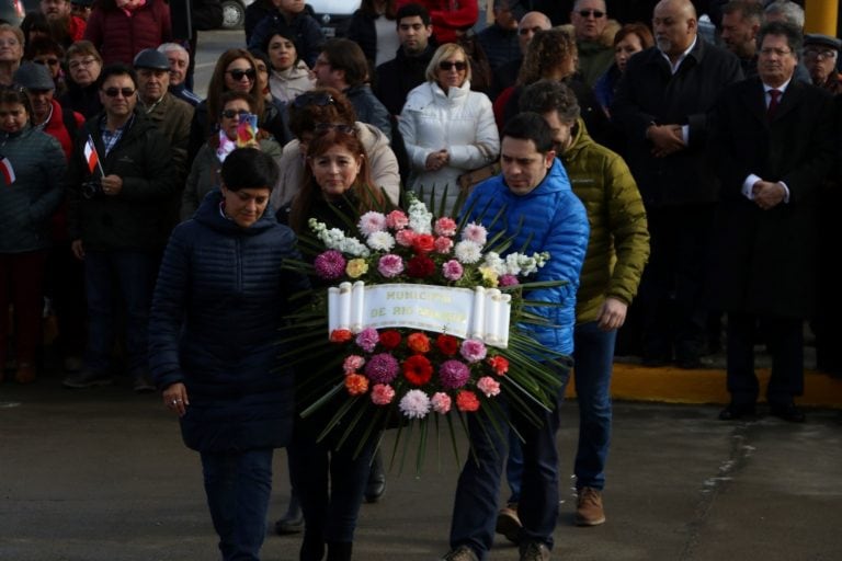
M 88 348 L 84 367 L 107 373 L 114 348 L 117 302 L 123 302 L 126 321 L 128 374 L 149 370 L 147 327 L 159 257 L 140 251 L 86 251 L 84 284 L 88 297 Z M 118 294 L 115 294 L 115 288 Z

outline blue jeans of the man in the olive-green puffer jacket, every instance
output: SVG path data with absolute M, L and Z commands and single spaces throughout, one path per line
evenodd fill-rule
M 573 473 L 576 486 L 602 490 L 605 461 L 611 444 L 611 373 L 614 367 L 616 330 L 602 331 L 595 321 L 581 323 L 573 331 L 576 394 L 579 401 L 579 447 Z M 510 438 L 505 474 L 511 489 L 510 503 L 517 503 L 523 480 L 520 440 Z

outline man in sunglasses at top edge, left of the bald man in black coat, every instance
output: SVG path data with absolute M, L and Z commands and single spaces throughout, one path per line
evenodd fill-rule
M 591 88 L 614 62 L 614 37 L 603 37 L 608 23 L 604 0 L 578 0 L 570 12 L 579 50 L 579 72 Z

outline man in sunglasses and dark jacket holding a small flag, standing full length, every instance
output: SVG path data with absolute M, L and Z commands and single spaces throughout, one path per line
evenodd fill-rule
M 89 328 L 82 370 L 65 378 L 64 385 L 112 383 L 114 334 L 123 317 L 126 370 L 134 390 L 153 391 L 147 323 L 158 261 L 172 224 L 170 205 L 180 184 L 170 144 L 135 111 L 135 71 L 111 65 L 98 83 L 104 111 L 77 135 L 68 167 L 68 231 L 73 254 L 84 262 Z

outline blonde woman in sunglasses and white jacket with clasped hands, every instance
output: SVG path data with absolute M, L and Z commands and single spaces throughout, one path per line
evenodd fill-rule
M 459 175 L 500 156 L 491 101 L 470 91 L 468 57 L 454 43 L 436 49 L 426 82 L 407 95 L 398 127 L 412 169 L 410 187 L 425 194 L 434 190 L 436 199 L 445 196 L 446 214 L 458 198 Z

